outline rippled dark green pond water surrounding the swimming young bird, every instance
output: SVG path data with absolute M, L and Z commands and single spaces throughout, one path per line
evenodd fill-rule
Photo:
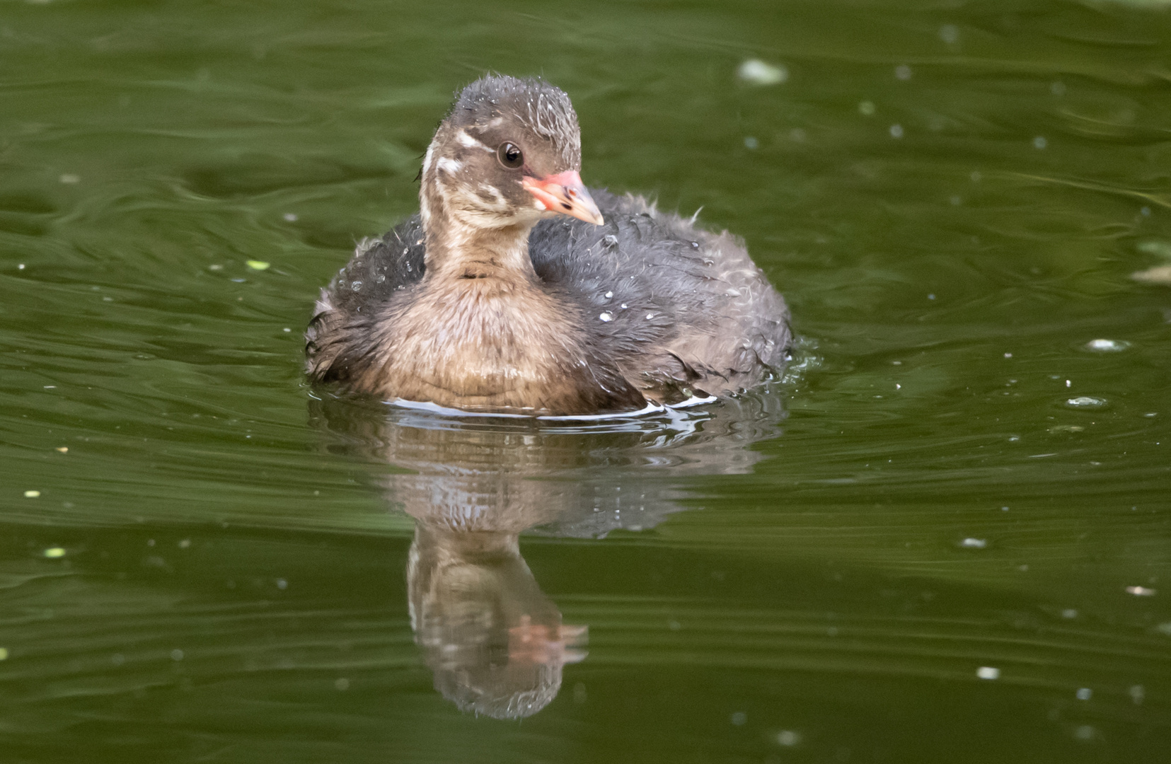
M 317 288 L 487 69 L 747 240 L 774 393 L 313 400 Z M 0 760 L 1165 762 L 1169 261 L 1165 2 L 0 2 Z M 415 643 L 445 507 L 589 627 L 522 722 Z

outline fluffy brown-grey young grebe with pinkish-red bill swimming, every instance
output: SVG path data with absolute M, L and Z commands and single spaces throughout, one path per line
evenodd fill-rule
M 388 400 L 485 413 L 634 412 L 785 363 L 783 298 L 744 243 L 588 190 L 569 97 L 467 85 L 423 159 L 419 213 L 322 290 L 307 371 Z

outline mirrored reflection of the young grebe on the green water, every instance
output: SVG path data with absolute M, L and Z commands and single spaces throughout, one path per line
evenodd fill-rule
M 520 535 L 601 537 L 678 511 L 683 477 L 748 472 L 775 434 L 768 393 L 660 417 L 591 424 L 456 419 L 321 400 L 329 448 L 402 472 L 377 480 L 415 518 L 411 628 L 434 686 L 465 711 L 520 718 L 586 658 L 587 626 L 563 624 L 520 553 Z M 406 472 L 409 470 L 409 472 Z

